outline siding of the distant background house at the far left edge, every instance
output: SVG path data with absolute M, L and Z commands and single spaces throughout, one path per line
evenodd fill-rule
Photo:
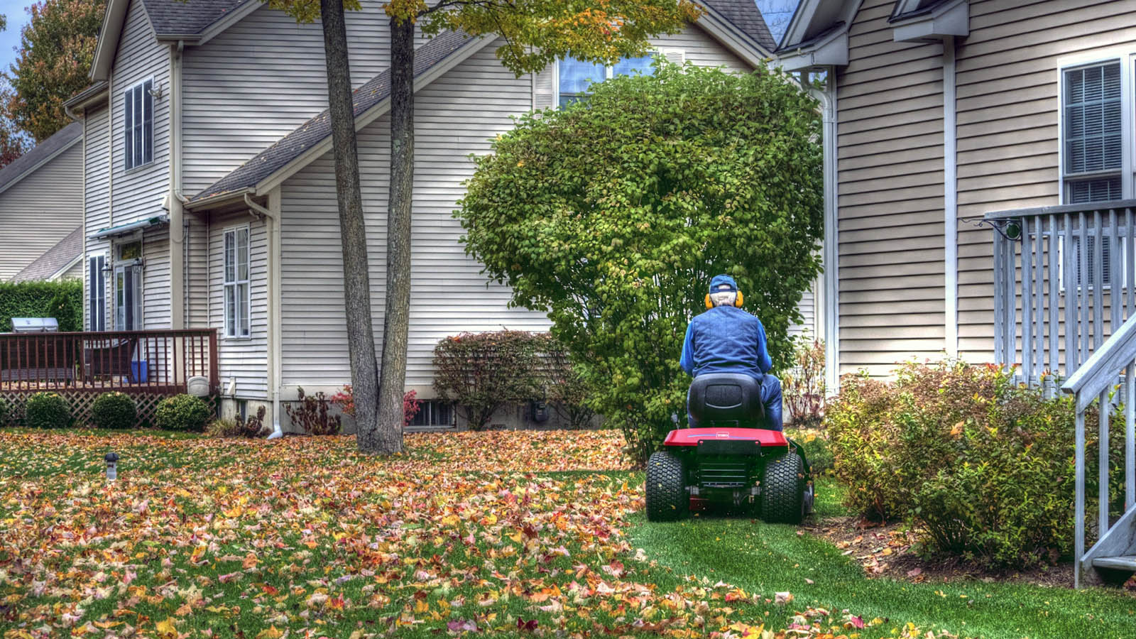
M 83 141 L 0 192 L 0 282 L 83 223 Z

